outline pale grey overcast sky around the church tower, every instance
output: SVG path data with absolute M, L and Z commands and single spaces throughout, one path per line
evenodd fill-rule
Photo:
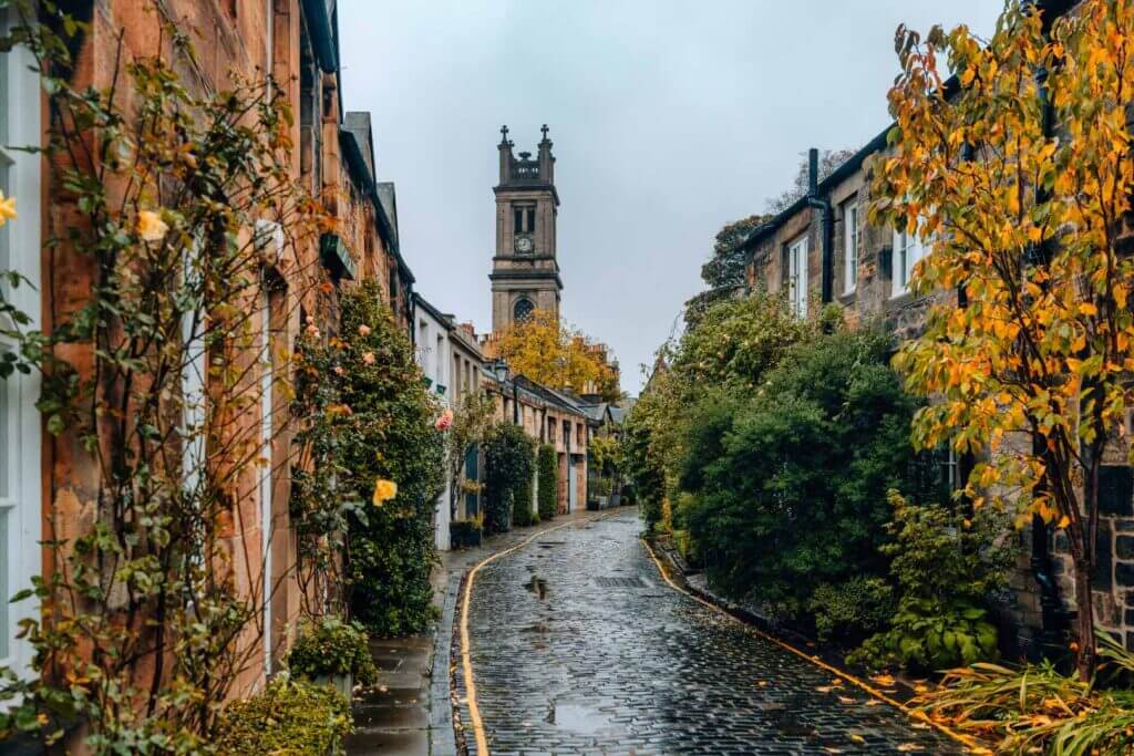
M 988 35 L 1001 0 L 339 0 L 347 110 L 373 114 L 417 291 L 491 325 L 501 124 L 555 142 L 562 313 L 636 393 L 717 231 L 807 147 L 888 122 L 899 23 Z

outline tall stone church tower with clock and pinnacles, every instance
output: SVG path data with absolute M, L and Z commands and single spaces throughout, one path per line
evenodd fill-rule
M 556 159 L 548 127 L 539 154 L 514 155 L 508 127 L 500 129 L 500 184 L 497 198 L 497 248 L 492 257 L 492 331 L 500 332 L 534 309 L 559 316 L 564 283 L 556 260 Z

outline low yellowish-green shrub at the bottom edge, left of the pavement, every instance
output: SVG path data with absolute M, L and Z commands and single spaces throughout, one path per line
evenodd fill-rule
M 340 754 L 353 724 L 350 702 L 337 690 L 280 676 L 225 708 L 214 745 L 221 756 Z

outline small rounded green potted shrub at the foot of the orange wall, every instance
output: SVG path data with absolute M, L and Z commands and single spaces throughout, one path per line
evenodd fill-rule
M 316 678 L 352 674 L 354 681 L 370 686 L 378 682 L 378 668 L 370 655 L 366 630 L 357 622 L 323 617 L 304 622 L 301 635 L 287 655 L 293 674 Z

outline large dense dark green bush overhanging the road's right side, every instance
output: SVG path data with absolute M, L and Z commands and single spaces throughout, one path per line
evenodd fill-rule
M 726 593 L 789 617 L 819 586 L 881 577 L 889 489 L 916 490 L 914 401 L 891 341 L 839 331 L 793 348 L 754 397 L 703 391 L 686 411 L 679 516 Z

